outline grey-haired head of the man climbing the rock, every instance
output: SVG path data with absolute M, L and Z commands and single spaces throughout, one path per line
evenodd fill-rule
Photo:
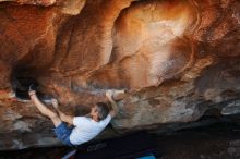
M 101 121 L 104 120 L 109 113 L 109 108 L 104 102 L 97 102 L 92 109 L 91 109 L 91 117 L 95 121 Z

